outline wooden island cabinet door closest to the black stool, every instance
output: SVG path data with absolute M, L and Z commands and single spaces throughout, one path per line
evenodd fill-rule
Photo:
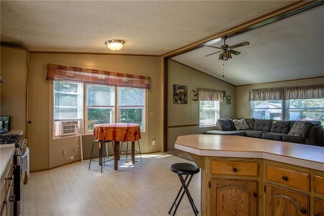
M 211 215 L 257 215 L 257 181 L 212 178 Z

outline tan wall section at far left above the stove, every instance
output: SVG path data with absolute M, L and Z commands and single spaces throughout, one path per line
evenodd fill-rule
M 26 85 L 28 50 L 1 47 L 0 115 L 11 116 L 11 130 L 23 130 L 26 137 Z

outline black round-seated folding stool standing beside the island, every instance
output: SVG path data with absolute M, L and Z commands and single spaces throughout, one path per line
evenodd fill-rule
M 194 214 L 197 215 L 198 210 L 197 210 L 197 208 L 196 208 L 196 206 L 195 206 L 195 204 L 193 202 L 193 199 L 192 199 L 192 197 L 191 197 L 191 195 L 189 193 L 188 186 L 190 184 L 192 176 L 199 172 L 199 168 L 195 164 L 192 164 L 192 163 L 175 163 L 175 164 L 173 164 L 171 166 L 171 170 L 178 174 L 182 186 L 181 186 L 181 188 L 179 190 L 179 193 L 178 193 L 176 199 L 174 200 L 174 202 L 173 202 L 173 204 L 172 204 L 172 206 L 171 206 L 171 208 L 169 210 L 169 214 L 171 213 L 171 210 L 172 210 L 173 206 L 176 206 L 176 208 L 175 208 L 175 210 L 173 212 L 173 215 L 176 214 L 176 211 L 177 211 L 177 209 L 178 209 L 178 207 L 180 205 L 182 197 L 183 197 L 184 193 L 186 193 L 187 197 L 188 197 L 188 200 L 190 202 L 190 205 L 192 207 L 192 210 L 193 210 Z M 186 175 L 186 177 L 184 179 L 183 179 L 183 175 Z M 189 179 L 187 181 L 188 176 L 190 176 L 190 177 L 189 177 Z M 177 200 L 179 198 L 179 195 L 180 195 L 182 189 L 184 191 L 182 192 L 181 197 L 179 199 L 179 202 L 177 204 Z

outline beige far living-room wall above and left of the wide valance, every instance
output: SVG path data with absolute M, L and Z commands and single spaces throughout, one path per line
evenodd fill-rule
M 264 84 L 255 84 L 247 86 L 237 86 L 236 92 L 236 118 L 251 118 L 251 102 L 249 99 L 249 90 L 251 89 L 263 89 L 263 88 L 275 88 L 275 87 L 292 87 L 292 86 L 308 86 L 324 84 L 324 77 L 303 79 L 284 82 L 273 82 Z

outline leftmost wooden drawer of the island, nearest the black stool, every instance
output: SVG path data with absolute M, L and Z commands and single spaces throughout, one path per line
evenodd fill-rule
M 212 174 L 258 176 L 258 163 L 212 161 Z

